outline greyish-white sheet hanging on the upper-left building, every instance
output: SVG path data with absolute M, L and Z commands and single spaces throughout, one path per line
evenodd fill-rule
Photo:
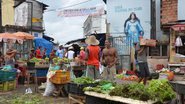
M 28 23 L 28 4 L 22 3 L 15 8 L 15 25 L 27 26 Z

